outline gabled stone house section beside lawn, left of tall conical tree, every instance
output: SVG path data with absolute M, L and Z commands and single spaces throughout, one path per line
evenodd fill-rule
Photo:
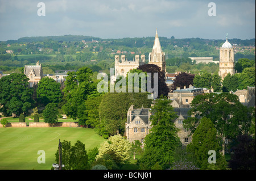
M 131 105 L 127 111 L 127 121 L 125 123 L 127 140 L 130 142 L 139 140 L 143 143 L 150 129 L 150 108 L 134 109 L 134 106 Z

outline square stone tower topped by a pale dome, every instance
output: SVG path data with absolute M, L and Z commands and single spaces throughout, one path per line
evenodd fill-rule
M 218 71 L 218 75 L 220 75 L 223 80 L 228 73 L 230 73 L 230 75 L 234 75 L 235 70 L 234 48 L 229 43 L 227 34 L 225 43 L 220 47 L 220 70 Z

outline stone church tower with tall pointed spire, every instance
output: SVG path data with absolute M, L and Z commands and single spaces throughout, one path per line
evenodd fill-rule
M 148 54 L 148 64 L 158 65 L 166 74 L 166 53 L 162 52 L 157 30 L 152 52 Z

